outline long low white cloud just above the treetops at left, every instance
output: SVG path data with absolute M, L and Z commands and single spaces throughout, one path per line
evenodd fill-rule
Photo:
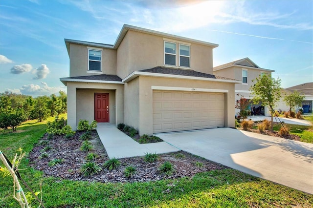
M 5 91 L 16 93 L 16 94 L 33 95 L 33 96 L 58 94 L 60 90 L 66 92 L 66 86 L 50 87 L 45 82 L 41 82 L 41 86 L 38 84 L 32 83 L 32 84 L 25 84 L 20 89 L 5 89 Z

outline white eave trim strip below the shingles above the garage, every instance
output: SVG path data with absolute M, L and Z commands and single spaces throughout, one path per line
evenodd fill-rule
M 224 80 L 224 79 L 213 79 L 206 77 L 192 77 L 192 76 L 184 76 L 184 75 L 173 75 L 173 74 L 160 74 L 160 73 L 152 73 L 152 72 L 139 72 L 134 71 L 126 78 L 122 80 L 123 83 L 128 83 L 134 80 L 138 76 L 148 76 L 148 77 L 161 77 L 161 78 L 174 78 L 174 79 L 185 79 L 185 80 L 198 80 L 198 81 L 212 81 L 212 82 L 223 82 L 223 83 L 242 83 L 239 80 Z

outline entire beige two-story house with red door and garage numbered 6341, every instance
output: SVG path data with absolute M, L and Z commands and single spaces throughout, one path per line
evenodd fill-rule
M 134 126 L 140 135 L 234 127 L 235 79 L 213 75 L 217 44 L 124 25 L 115 43 L 65 40 L 67 123 Z M 241 79 L 240 79 L 241 80 Z

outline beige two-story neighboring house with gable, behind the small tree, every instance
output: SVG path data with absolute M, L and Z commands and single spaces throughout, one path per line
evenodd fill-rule
M 262 74 L 268 74 L 271 76 L 272 72 L 274 72 L 274 70 L 261 68 L 249 58 L 213 67 L 214 75 L 241 81 L 241 83 L 235 84 L 235 101 L 238 101 L 241 98 L 241 95 L 250 100 L 253 97 L 250 92 L 250 87 L 253 85 L 252 80 L 255 80 L 255 78 Z M 254 113 L 257 115 L 270 115 L 269 108 L 267 106 L 262 106 L 262 103 L 252 104 L 252 109 L 254 109 Z M 236 109 L 236 113 L 239 111 L 239 109 Z

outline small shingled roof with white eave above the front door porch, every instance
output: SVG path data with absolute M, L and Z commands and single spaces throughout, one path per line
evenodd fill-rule
M 67 85 L 67 82 L 85 82 L 85 83 L 122 83 L 122 79 L 116 75 L 90 75 L 90 76 L 79 76 L 79 77 L 65 77 L 60 78 L 60 81 Z

